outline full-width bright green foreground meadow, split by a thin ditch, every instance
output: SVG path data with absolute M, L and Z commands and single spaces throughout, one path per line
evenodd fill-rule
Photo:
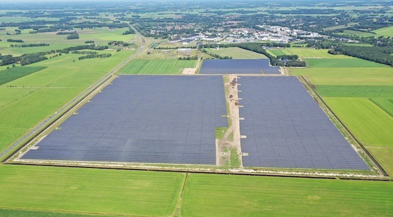
M 1 165 L 0 174 L 0 214 L 19 216 L 390 216 L 393 209 L 392 182 L 21 165 Z

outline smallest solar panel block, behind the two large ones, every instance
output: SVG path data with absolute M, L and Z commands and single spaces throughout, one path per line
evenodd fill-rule
M 279 74 L 279 67 L 271 67 L 269 59 L 259 60 L 203 60 L 201 74 Z

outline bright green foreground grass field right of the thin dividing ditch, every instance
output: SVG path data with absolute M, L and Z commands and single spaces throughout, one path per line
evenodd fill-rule
M 189 175 L 182 216 L 392 216 L 393 183 Z

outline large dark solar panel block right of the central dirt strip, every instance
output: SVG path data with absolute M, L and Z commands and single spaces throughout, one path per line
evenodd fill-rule
M 369 169 L 296 77 L 238 83 L 243 166 Z

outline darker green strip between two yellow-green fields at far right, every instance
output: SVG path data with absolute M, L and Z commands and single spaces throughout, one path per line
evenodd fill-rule
M 329 97 L 392 97 L 393 86 L 318 85 L 317 92 Z

